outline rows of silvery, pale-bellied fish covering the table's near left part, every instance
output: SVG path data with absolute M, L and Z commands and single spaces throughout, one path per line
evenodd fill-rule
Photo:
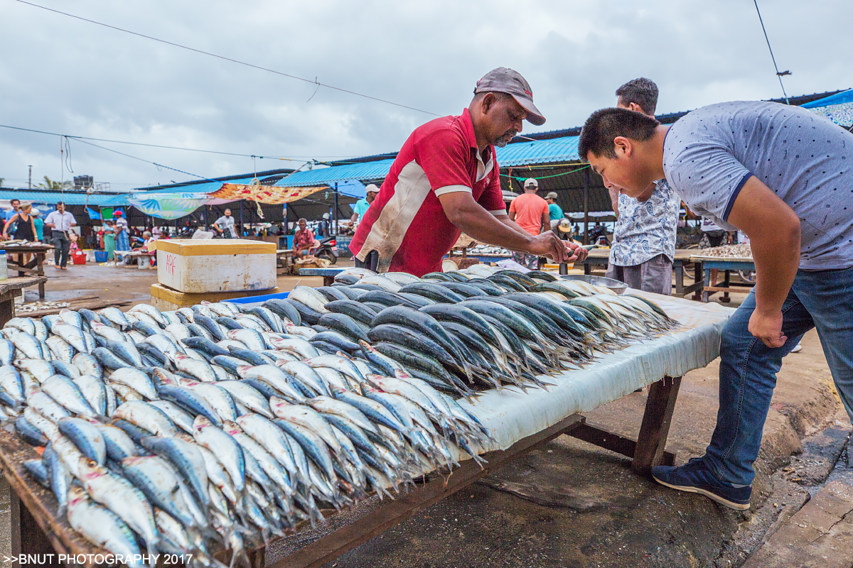
M 456 397 L 268 306 L 63 310 L 0 330 L 0 415 L 44 449 L 24 465 L 73 529 L 125 558 L 220 566 L 230 551 L 234 566 L 324 510 L 482 462 L 493 440 Z

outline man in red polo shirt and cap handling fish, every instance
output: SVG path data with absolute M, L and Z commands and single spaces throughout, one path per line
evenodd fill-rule
M 533 236 L 507 215 L 495 146 L 506 146 L 525 118 L 545 123 L 525 78 L 498 67 L 479 80 L 460 116 L 415 129 L 352 238 L 356 266 L 415 276 L 439 271 L 462 231 L 557 262 L 583 260 L 586 250 L 577 244 L 550 231 Z

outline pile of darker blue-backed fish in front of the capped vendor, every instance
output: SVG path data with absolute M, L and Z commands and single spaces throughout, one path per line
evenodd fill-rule
M 331 286 L 298 286 L 287 299 L 269 304 L 292 308 L 292 317 L 321 338 L 335 332 L 350 347 L 369 343 L 366 353 L 386 355 L 457 397 L 507 384 L 547 386 L 548 375 L 583 367 L 596 351 L 610 352 L 677 325 L 639 295 L 483 265 L 423 278 L 351 268 Z

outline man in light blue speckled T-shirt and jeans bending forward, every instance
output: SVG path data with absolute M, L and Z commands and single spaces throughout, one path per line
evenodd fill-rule
M 664 126 L 640 112 L 594 112 L 581 158 L 633 197 L 655 180 L 699 215 L 750 239 L 756 285 L 722 330 L 720 410 L 705 456 L 654 479 L 750 506 L 752 468 L 782 358 L 817 329 L 853 417 L 853 134 L 798 106 L 725 102 Z

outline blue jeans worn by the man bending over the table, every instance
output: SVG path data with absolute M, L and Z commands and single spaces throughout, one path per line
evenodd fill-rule
M 720 410 L 705 463 L 721 481 L 751 485 L 764 420 L 782 358 L 806 331 L 817 328 L 833 381 L 853 418 L 853 267 L 797 273 L 782 307 L 782 332 L 788 341 L 771 349 L 751 336 L 749 318 L 755 290 L 722 331 Z

